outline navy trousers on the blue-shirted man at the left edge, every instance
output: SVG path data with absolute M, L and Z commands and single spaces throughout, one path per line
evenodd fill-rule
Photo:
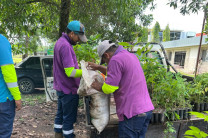
M 0 138 L 10 138 L 15 117 L 15 101 L 0 103 Z

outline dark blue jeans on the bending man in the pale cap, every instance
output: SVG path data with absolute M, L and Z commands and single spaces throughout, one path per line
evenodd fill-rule
M 119 122 L 119 138 L 145 138 L 152 111 L 133 116 L 130 119 L 124 118 L 124 121 Z

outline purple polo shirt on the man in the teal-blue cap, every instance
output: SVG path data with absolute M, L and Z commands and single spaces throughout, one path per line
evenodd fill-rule
M 64 68 L 78 69 L 77 58 L 67 34 L 62 33 L 54 47 L 53 58 L 53 88 L 65 94 L 77 94 L 80 78 L 67 77 Z

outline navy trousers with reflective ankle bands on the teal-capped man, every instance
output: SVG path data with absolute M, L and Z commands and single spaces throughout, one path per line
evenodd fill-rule
M 55 117 L 54 131 L 63 133 L 65 138 L 74 138 L 73 124 L 77 119 L 79 95 L 64 94 L 57 91 L 58 110 Z

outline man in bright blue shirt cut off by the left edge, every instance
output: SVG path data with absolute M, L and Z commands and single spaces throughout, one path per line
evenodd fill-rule
M 17 111 L 21 109 L 21 95 L 11 45 L 0 34 L 0 138 L 11 137 L 15 108 Z

